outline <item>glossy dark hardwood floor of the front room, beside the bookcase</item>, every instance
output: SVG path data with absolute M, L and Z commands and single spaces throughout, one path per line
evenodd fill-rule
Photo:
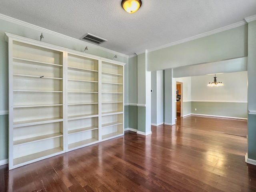
M 127 131 L 14 170 L 0 166 L 0 192 L 255 192 L 246 151 L 245 137 L 152 126 L 148 136 Z

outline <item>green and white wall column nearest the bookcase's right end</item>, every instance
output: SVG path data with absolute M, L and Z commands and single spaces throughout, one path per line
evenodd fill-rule
M 138 55 L 138 134 L 151 132 L 151 72 L 147 71 L 147 52 Z

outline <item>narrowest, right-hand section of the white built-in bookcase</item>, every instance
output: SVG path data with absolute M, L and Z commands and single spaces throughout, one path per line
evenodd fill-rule
M 102 60 L 101 139 L 124 134 L 124 67 Z

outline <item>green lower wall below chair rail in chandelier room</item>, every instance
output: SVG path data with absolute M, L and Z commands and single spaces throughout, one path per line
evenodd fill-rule
M 247 118 L 247 103 L 191 102 L 191 113 L 234 118 Z

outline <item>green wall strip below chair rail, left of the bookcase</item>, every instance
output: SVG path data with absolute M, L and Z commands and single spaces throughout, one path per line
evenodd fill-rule
M 8 115 L 0 115 L 0 161 L 8 159 Z

